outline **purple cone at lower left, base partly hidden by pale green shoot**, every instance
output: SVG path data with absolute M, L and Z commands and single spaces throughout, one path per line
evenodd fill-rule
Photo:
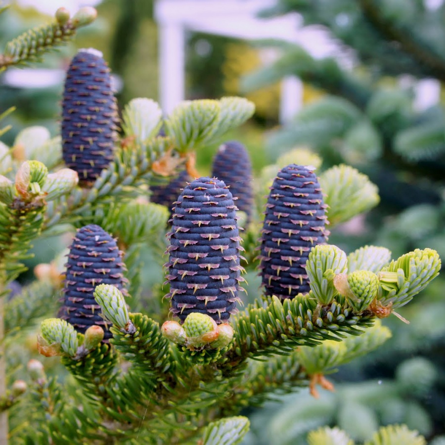
M 108 340 L 112 335 L 100 316 L 100 306 L 93 292 L 98 284 L 112 284 L 126 294 L 125 265 L 116 240 L 96 224 L 80 228 L 65 266 L 65 296 L 59 316 L 82 333 L 93 324 L 100 325 L 105 331 L 104 339 Z

